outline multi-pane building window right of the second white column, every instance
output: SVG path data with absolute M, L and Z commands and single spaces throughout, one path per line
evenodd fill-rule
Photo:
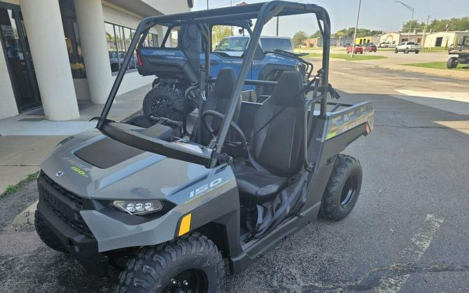
M 135 29 L 117 24 L 110 24 L 108 22 L 105 22 L 104 26 L 106 28 L 106 42 L 108 43 L 110 71 L 118 72 L 124 63 L 124 57 L 132 42 Z M 149 33 L 144 41 L 144 47 L 155 46 L 158 46 L 158 35 Z M 134 51 L 127 70 L 135 69 L 137 69 L 137 54 Z

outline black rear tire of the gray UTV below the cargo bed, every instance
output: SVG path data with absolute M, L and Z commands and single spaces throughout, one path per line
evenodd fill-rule
M 352 212 L 361 189 L 359 160 L 339 154 L 322 195 L 320 217 L 340 221 Z

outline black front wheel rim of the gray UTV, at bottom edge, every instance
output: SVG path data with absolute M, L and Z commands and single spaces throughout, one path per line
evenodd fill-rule
M 205 293 L 208 292 L 207 275 L 201 269 L 185 269 L 167 281 L 165 293 Z

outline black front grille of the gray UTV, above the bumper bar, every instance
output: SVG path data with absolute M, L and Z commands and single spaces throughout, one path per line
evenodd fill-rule
M 90 228 L 88 228 L 80 215 L 80 211 L 83 210 L 83 199 L 80 196 L 65 190 L 65 188 L 55 183 L 42 171 L 38 178 L 38 189 L 40 199 L 60 219 L 80 234 L 94 238 Z M 51 191 L 49 192 L 49 190 Z

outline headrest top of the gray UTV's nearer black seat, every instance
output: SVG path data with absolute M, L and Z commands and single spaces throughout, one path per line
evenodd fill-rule
M 303 88 L 302 74 L 299 72 L 283 72 L 280 75 L 270 97 L 270 103 L 275 106 L 299 107 L 304 105 L 304 93 L 299 94 Z

